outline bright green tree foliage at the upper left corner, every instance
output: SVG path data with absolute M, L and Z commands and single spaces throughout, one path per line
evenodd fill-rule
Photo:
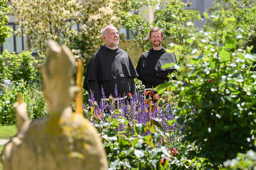
M 11 36 L 11 31 L 13 31 L 13 29 L 7 26 L 9 19 L 7 14 L 10 13 L 11 6 L 7 6 L 5 2 L 7 0 L 0 0 L 0 46 L 5 42 L 5 38 Z

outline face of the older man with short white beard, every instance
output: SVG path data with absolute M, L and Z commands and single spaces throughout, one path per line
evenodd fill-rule
M 109 27 L 106 29 L 105 36 L 103 35 L 102 38 L 108 47 L 116 47 L 119 42 L 118 30 L 115 27 Z

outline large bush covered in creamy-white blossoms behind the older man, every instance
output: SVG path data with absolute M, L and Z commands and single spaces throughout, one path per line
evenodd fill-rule
M 52 39 L 72 49 L 83 63 L 97 51 L 102 29 L 113 24 L 119 28 L 116 14 L 123 1 L 117 0 L 12 0 L 13 15 L 19 29 L 18 36 L 27 35 L 27 46 L 41 53 L 47 51 L 47 41 Z M 76 27 L 79 24 L 79 28 Z

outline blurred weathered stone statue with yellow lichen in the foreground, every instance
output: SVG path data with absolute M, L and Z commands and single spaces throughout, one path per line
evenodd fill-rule
M 26 104 L 14 104 L 18 134 L 1 155 L 3 170 L 106 170 L 106 153 L 98 131 L 82 112 L 82 63 L 78 62 L 78 85 L 71 87 L 75 60 L 66 46 L 48 42 L 42 67 L 42 90 L 51 117 L 29 121 Z M 79 87 L 79 88 L 78 88 Z M 70 102 L 75 93 L 77 108 Z

